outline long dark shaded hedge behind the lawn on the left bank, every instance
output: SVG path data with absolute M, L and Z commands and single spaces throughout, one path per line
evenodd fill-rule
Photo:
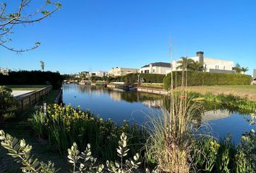
M 0 84 L 52 84 L 54 89 L 59 89 L 62 76 L 51 71 L 11 71 L 9 75 L 0 74 Z

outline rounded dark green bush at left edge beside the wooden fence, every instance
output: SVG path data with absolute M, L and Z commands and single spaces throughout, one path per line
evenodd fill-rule
M 17 100 L 12 96 L 12 89 L 0 86 L 0 121 L 17 115 L 18 107 Z

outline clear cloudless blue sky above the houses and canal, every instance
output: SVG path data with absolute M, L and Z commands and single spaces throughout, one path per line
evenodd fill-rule
M 61 74 L 140 68 L 170 61 L 169 37 L 174 59 L 202 50 L 205 57 L 248 67 L 247 74 L 256 68 L 255 0 L 59 1 L 62 8 L 52 17 L 10 35 L 12 47 L 40 41 L 40 48 L 22 54 L 0 48 L 1 68 L 39 70 L 39 61 Z

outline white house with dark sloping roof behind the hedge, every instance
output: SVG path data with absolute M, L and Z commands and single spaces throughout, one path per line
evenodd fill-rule
M 171 63 L 150 63 L 140 68 L 140 74 L 166 74 L 166 71 L 171 70 Z

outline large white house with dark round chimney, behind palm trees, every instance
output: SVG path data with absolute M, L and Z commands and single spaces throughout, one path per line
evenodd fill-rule
M 225 73 L 225 74 L 234 74 L 234 61 L 226 61 L 216 58 L 207 58 L 204 57 L 202 51 L 197 52 L 197 56 L 189 57 L 190 59 L 203 63 L 203 68 L 205 71 L 212 73 Z M 180 63 L 179 60 L 173 61 L 171 63 L 171 71 L 182 71 L 181 68 L 178 68 Z

